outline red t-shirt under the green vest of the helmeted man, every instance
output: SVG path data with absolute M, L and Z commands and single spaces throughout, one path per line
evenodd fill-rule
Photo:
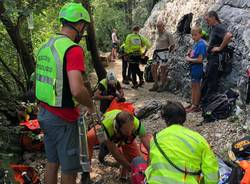
M 66 53 L 66 71 L 69 72 L 71 70 L 79 70 L 81 72 L 85 71 L 84 52 L 80 46 L 72 47 Z M 49 112 L 70 123 L 75 122 L 80 115 L 78 107 L 58 108 L 49 106 L 43 102 L 40 102 L 40 105 L 47 109 Z

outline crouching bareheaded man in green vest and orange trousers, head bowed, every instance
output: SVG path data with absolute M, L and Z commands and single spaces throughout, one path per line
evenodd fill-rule
M 131 161 L 141 155 L 135 140 L 137 136 L 149 149 L 145 127 L 136 117 L 126 111 L 109 111 L 104 114 L 101 125 L 95 126 L 88 132 L 90 158 L 93 155 L 94 145 L 104 143 L 113 157 L 122 165 L 121 179 L 125 179 L 128 171 L 131 170 Z

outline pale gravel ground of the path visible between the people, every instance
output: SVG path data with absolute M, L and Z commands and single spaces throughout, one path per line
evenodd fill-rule
M 111 63 L 108 69 L 115 70 L 118 79 L 121 79 L 121 63 Z M 95 77 L 91 75 L 90 77 L 92 83 L 95 84 Z M 121 80 L 120 80 L 121 81 Z M 145 105 L 149 100 L 159 100 L 160 102 L 165 102 L 167 100 L 179 101 L 183 103 L 184 106 L 187 105 L 187 99 L 181 98 L 177 95 L 163 92 L 149 92 L 148 89 L 152 84 L 145 84 L 143 88 L 138 90 L 131 89 L 131 86 L 124 86 L 125 95 L 128 101 L 134 102 L 136 108 L 140 108 Z M 244 125 L 244 115 L 240 117 L 230 117 L 227 120 L 216 121 L 213 123 L 203 124 L 198 126 L 202 121 L 201 113 L 190 113 L 188 114 L 187 122 L 185 126 L 198 131 L 203 135 L 209 144 L 211 145 L 214 152 L 222 158 L 227 158 L 226 151 L 230 148 L 231 144 L 244 135 L 249 135 L 249 131 L 244 130 L 242 127 Z M 165 123 L 161 120 L 159 113 L 155 113 L 146 119 L 142 120 L 148 132 L 156 132 L 165 127 Z M 120 184 L 124 182 L 119 181 L 119 166 L 112 156 L 107 157 L 107 164 L 102 165 L 97 160 L 97 150 L 94 152 L 94 158 L 92 160 L 92 171 L 91 178 L 93 181 L 99 181 L 99 183 L 104 184 Z M 43 177 L 44 173 L 44 156 L 39 155 L 36 157 L 35 161 L 30 161 L 31 165 L 34 165 Z M 129 182 L 125 182 L 129 183 Z

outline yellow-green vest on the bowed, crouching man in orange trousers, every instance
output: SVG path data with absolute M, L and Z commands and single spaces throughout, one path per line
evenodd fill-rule
M 117 130 L 115 130 L 114 120 L 117 114 L 119 114 L 120 112 L 121 110 L 112 110 L 104 114 L 102 125 L 109 139 L 111 139 L 117 133 L 116 132 Z M 140 121 L 136 117 L 134 117 L 134 127 L 135 127 L 135 131 L 133 132 L 134 135 L 138 134 L 140 126 L 141 126 Z

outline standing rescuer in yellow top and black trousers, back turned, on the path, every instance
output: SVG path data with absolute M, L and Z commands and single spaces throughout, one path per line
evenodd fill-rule
M 132 74 L 132 88 L 137 89 L 144 84 L 143 72 L 139 67 L 140 61 L 143 57 L 145 57 L 151 43 L 146 37 L 139 34 L 139 26 L 134 26 L 132 31 L 133 33 L 128 34 L 126 37 L 124 48 L 125 53 L 128 54 L 129 72 Z M 136 75 L 139 77 L 139 84 L 137 83 Z

